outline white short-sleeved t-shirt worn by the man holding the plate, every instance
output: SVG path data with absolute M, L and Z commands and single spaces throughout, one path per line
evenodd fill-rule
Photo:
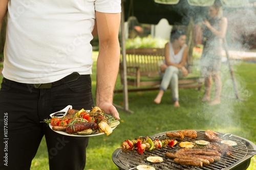
M 92 74 L 95 10 L 120 13 L 121 0 L 10 0 L 4 77 L 34 84 Z

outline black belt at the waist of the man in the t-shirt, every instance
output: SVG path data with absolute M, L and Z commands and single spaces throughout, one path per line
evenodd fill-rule
M 53 86 L 58 86 L 61 84 L 65 84 L 65 83 L 69 83 L 69 82 L 73 82 L 75 80 L 77 80 L 79 78 L 79 73 L 78 72 L 73 72 L 72 74 L 56 81 L 56 82 L 52 82 L 52 83 L 40 83 L 40 84 L 26 84 L 26 83 L 18 83 L 15 82 L 19 85 L 23 85 L 23 86 L 33 86 L 34 88 L 52 88 Z M 3 83 L 7 83 L 10 80 L 6 80 L 3 79 Z M 11 81 L 13 82 L 13 81 Z

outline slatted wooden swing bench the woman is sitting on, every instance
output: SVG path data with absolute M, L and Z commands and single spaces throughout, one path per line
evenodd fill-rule
M 159 89 L 159 85 L 161 83 L 159 66 L 161 62 L 164 61 L 164 58 L 164 48 L 127 49 L 127 85 L 137 87 L 137 89 L 129 89 L 129 91 Z M 123 84 L 122 61 L 120 62 L 119 73 L 121 83 Z M 147 80 L 143 81 L 142 78 L 146 78 Z M 179 88 L 198 88 L 198 90 L 200 90 L 202 82 L 203 79 L 200 76 L 193 78 L 181 78 L 179 79 Z M 145 86 L 146 88 L 140 88 L 141 86 Z M 116 90 L 116 92 L 120 92 L 120 90 Z

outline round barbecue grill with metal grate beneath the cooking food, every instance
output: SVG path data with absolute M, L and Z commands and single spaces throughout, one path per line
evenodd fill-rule
M 177 139 L 180 141 L 196 141 L 196 140 L 205 140 L 204 132 L 202 130 L 197 131 L 197 138 L 191 139 L 188 137 L 184 137 L 184 139 Z M 173 131 L 177 132 L 177 131 Z M 165 135 L 165 132 L 158 133 L 156 135 L 150 136 L 153 139 L 165 139 L 168 138 Z M 156 169 L 174 169 L 174 170 L 194 170 L 194 169 L 203 169 L 203 170 L 245 170 L 250 164 L 251 157 L 253 157 L 256 153 L 256 145 L 251 141 L 236 136 L 232 134 L 223 134 L 220 133 L 220 138 L 223 140 L 232 140 L 238 143 L 238 145 L 231 149 L 232 155 L 231 156 L 221 156 L 221 160 L 218 162 L 210 163 L 209 165 L 203 165 L 203 167 L 196 167 L 196 166 L 187 166 L 187 165 L 180 165 L 174 163 L 173 159 L 165 157 L 166 152 L 175 153 L 180 149 L 179 145 L 176 144 L 173 148 L 164 147 L 155 149 L 152 151 L 144 151 L 142 155 L 139 155 L 137 151 L 129 151 L 124 153 L 120 148 L 116 149 L 112 154 L 113 162 L 118 166 L 119 169 L 122 170 L 129 170 L 129 169 L 136 169 L 137 165 L 146 164 L 155 167 Z M 254 150 L 254 151 L 253 151 Z M 160 156 L 164 159 L 161 163 L 151 163 L 146 161 L 148 156 Z

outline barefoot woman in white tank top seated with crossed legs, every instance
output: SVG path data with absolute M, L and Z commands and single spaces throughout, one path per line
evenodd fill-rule
M 180 107 L 178 78 L 179 76 L 187 76 L 188 74 L 187 69 L 184 67 L 187 57 L 188 49 L 185 31 L 182 29 L 172 31 L 170 33 L 170 42 L 165 44 L 165 64 L 161 65 L 164 75 L 160 90 L 154 100 L 155 103 L 161 103 L 164 91 L 170 85 L 174 107 Z

